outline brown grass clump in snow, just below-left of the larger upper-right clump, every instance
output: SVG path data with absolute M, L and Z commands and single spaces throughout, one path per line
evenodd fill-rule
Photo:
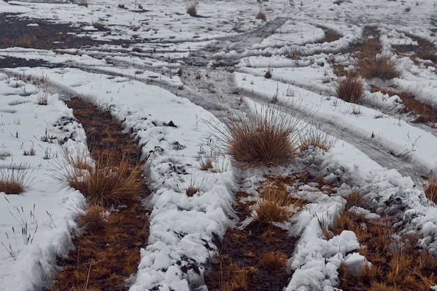
M 363 84 L 360 78 L 353 73 L 347 73 L 336 82 L 335 91 L 337 96 L 346 102 L 362 103 Z

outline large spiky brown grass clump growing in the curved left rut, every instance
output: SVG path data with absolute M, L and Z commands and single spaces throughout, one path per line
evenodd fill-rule
M 129 200 L 137 200 L 142 194 L 142 168 L 131 165 L 128 158 L 121 158 L 116 166 L 112 166 L 110 158 L 98 155 L 94 165 L 87 163 L 84 156 L 68 158 L 66 181 L 68 185 L 79 190 L 89 204 L 103 207 L 119 204 Z

